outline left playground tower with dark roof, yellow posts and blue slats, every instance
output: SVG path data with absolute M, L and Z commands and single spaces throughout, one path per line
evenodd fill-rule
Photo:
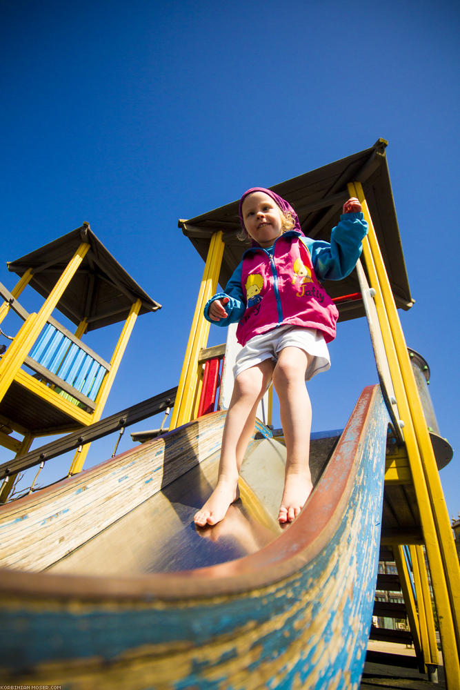
M 10 335 L 0 359 L 0 444 L 23 455 L 35 437 L 99 420 L 137 316 L 161 305 L 134 282 L 88 223 L 9 262 L 8 269 L 19 275 L 19 282 L 11 292 L 0 285 L 0 322 L 11 310 L 23 324 Z M 28 313 L 18 300 L 26 286 L 44 299 L 37 313 Z M 52 316 L 54 310 L 77 330 L 62 326 Z M 82 337 L 118 322 L 123 328 L 106 362 Z M 81 470 L 88 448 L 77 452 L 70 473 Z M 1 502 L 14 476 L 3 484 Z

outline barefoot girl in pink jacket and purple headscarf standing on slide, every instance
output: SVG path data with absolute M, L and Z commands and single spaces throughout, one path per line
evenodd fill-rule
M 271 190 L 255 187 L 241 197 L 243 235 L 252 246 L 223 293 L 204 315 L 219 326 L 239 322 L 243 348 L 234 366 L 234 389 L 223 429 L 217 486 L 194 515 L 199 526 L 223 520 L 239 497 L 243 455 L 254 431 L 257 406 L 273 381 L 286 442 L 281 523 L 299 515 L 312 491 L 308 466 L 311 405 L 305 381 L 330 367 L 327 342 L 339 315 L 319 281 L 353 270 L 368 231 L 358 199 L 348 199 L 330 244 L 303 235 L 297 213 Z M 255 297 L 257 294 L 257 298 Z

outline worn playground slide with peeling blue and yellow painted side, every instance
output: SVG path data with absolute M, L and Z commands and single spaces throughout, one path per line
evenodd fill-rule
M 224 413 L 0 511 L 2 682 L 352 688 L 377 578 L 388 413 L 366 388 L 314 492 L 276 521 L 282 444 L 254 440 L 241 500 L 197 531 Z M 322 444 L 322 447 L 321 447 Z

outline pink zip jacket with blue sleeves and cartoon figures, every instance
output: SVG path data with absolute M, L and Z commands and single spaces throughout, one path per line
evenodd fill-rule
M 208 311 L 214 299 L 229 297 L 228 317 L 211 322 L 218 326 L 239 322 L 241 345 L 281 325 L 316 328 L 330 342 L 339 312 L 319 279 L 337 280 L 351 273 L 367 229 L 362 213 L 347 213 L 332 230 L 330 243 L 290 230 L 278 237 L 273 248 L 256 245 L 246 250 L 225 292 L 206 304 L 205 317 L 211 321 Z

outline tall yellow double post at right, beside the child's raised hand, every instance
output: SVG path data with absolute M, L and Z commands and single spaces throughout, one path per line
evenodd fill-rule
M 386 275 L 383 259 L 381 258 L 381 253 L 379 251 L 374 251 L 374 253 L 372 253 L 371 250 L 370 239 L 372 238 L 372 245 L 374 246 L 374 249 L 376 246 L 378 248 L 378 242 L 377 237 L 375 235 L 374 226 L 372 224 L 372 219 L 370 218 L 368 205 L 363 195 L 362 187 L 359 183 L 357 183 L 356 185 L 349 184 L 348 190 L 350 195 L 357 196 L 359 198 L 359 201 L 361 201 L 364 216 L 366 217 L 366 220 L 369 224 L 369 235 L 363 241 L 363 256 L 366 262 L 366 267 L 368 268 L 370 284 L 376 290 L 375 306 L 377 308 L 377 314 L 379 315 L 379 322 L 381 324 L 381 331 L 386 348 L 387 344 L 390 344 L 389 349 L 387 351 L 388 364 L 390 366 L 390 373 L 392 377 L 392 383 L 394 386 L 394 392 L 397 397 L 399 412 L 405 424 L 404 438 L 406 441 L 406 449 L 408 451 L 408 458 L 412 473 L 412 482 L 414 484 L 414 489 L 417 496 L 417 503 L 419 505 L 423 538 L 425 540 L 428 562 L 430 564 L 430 570 L 432 573 L 434 599 L 437 605 L 439 627 L 441 631 L 441 640 L 443 642 L 443 658 L 446 666 L 446 677 L 450 677 L 452 687 L 460 687 L 459 650 L 457 648 L 458 643 L 456 639 L 456 635 L 458 635 L 458 629 L 454 623 L 454 618 L 452 615 L 453 607 L 451 607 L 451 602 L 449 598 L 449 573 L 446 573 L 444 569 L 443 560 L 441 558 L 441 551 L 439 548 L 437 531 L 434 523 L 434 516 L 432 513 L 432 506 L 430 504 L 430 496 L 428 494 L 426 478 L 423 473 L 421 454 L 419 453 L 419 446 L 417 444 L 417 437 L 415 435 L 412 414 L 410 413 L 408 392 L 406 391 L 406 386 L 403 382 L 401 366 L 399 358 L 397 357 L 396 346 L 394 344 L 394 335 L 392 328 L 390 327 L 390 319 L 388 315 L 388 306 L 390 306 L 390 304 L 388 302 L 388 299 L 383 299 L 382 284 L 388 285 L 388 290 L 390 291 L 390 293 L 391 288 L 388 282 L 388 276 Z M 393 299 L 392 304 L 394 311 L 396 312 L 396 306 L 394 304 Z M 396 318 L 399 321 L 397 313 Z M 414 395 L 417 395 L 418 397 L 417 390 Z M 455 571 L 453 570 L 453 572 Z

